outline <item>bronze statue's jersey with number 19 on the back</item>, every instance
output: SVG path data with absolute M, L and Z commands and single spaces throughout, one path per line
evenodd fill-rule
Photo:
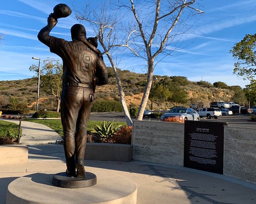
M 107 74 L 103 60 L 81 41 L 66 41 L 50 37 L 50 51 L 63 61 L 63 84 L 92 84 L 93 76 L 98 79 Z

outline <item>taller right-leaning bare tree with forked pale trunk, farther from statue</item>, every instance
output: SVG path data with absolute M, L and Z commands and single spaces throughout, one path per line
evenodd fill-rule
M 148 96 L 153 81 L 155 62 L 159 62 L 164 56 L 170 55 L 176 48 L 179 37 L 189 30 L 186 21 L 189 16 L 203 11 L 192 7 L 195 0 L 147 0 L 147 1 L 119 1 L 120 9 L 126 8 L 132 12 L 135 19 L 135 30 L 138 30 L 138 37 L 133 38 L 134 52 L 146 60 L 147 84 L 144 89 L 137 119 L 142 120 L 146 108 Z M 185 10 L 187 14 L 182 18 Z M 134 28 L 133 28 L 134 30 Z M 177 39 L 178 38 L 178 39 Z M 138 40 L 138 41 L 136 41 Z M 160 56 L 160 54 L 162 54 Z M 160 59 L 158 59 L 160 58 Z

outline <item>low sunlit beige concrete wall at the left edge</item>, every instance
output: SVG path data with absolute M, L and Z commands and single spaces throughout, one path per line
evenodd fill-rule
M 0 145 L 0 165 L 28 162 L 26 145 Z

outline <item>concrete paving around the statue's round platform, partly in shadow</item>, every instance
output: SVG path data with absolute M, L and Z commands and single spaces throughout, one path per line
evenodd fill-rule
M 45 129 L 45 126 L 26 123 L 24 122 L 23 126 L 27 130 L 32 130 L 33 135 L 27 136 L 35 143 L 38 142 L 36 138 L 33 138 L 36 135 L 46 137 L 53 133 Z M 42 133 L 44 129 L 46 131 Z M 36 134 L 37 131 L 42 132 Z M 0 165 L 0 204 L 5 203 L 9 183 L 18 177 L 35 173 L 55 174 L 65 171 L 65 158 L 61 144 L 38 145 L 32 144 L 32 141 L 29 145 L 28 163 Z M 256 203 L 256 185 L 220 174 L 138 161 L 127 163 L 86 161 L 85 166 L 90 172 L 101 171 L 133 180 L 138 186 L 138 204 Z

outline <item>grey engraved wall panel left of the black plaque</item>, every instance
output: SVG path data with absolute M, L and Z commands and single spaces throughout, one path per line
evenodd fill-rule
M 184 123 L 133 121 L 133 160 L 183 166 Z

